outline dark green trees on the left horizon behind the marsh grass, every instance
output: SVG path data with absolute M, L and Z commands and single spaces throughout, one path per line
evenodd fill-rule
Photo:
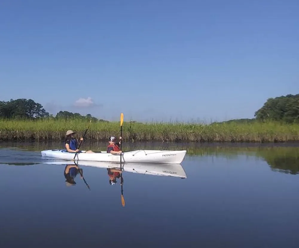
M 98 121 L 97 118 L 91 116 L 91 114 L 80 115 L 79 113 L 72 113 L 68 111 L 60 111 L 54 117 L 47 112 L 42 104 L 36 103 L 32 99 L 19 98 L 16 100 L 10 99 L 10 101 L 0 101 L 0 118 L 8 119 L 39 119 L 39 118 L 82 118 L 92 119 L 92 121 Z M 99 120 L 104 121 L 104 120 Z

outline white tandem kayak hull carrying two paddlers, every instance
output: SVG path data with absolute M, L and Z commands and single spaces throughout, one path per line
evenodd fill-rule
M 43 157 L 72 160 L 75 156 L 60 149 L 41 151 Z M 180 164 L 186 155 L 183 151 L 135 150 L 124 152 L 122 161 L 125 163 L 173 163 Z M 95 153 L 77 153 L 78 161 L 120 162 L 120 154 L 110 154 L 106 151 Z

